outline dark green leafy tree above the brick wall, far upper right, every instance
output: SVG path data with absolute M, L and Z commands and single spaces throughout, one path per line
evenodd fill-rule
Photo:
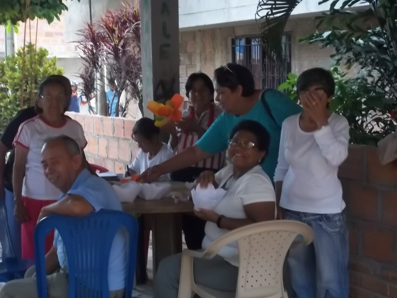
M 351 1 L 347 2 L 347 6 L 351 5 Z M 397 123 L 394 112 L 397 109 L 397 3 L 366 2 L 370 8 L 364 11 L 331 7 L 330 12 L 316 18 L 318 26 L 325 24 L 330 31 L 316 32 L 301 41 L 320 43 L 323 48 L 332 46 L 335 54 L 331 57 L 338 66 L 360 70 L 359 76 L 365 78 L 357 86 L 362 107 L 351 112 L 357 117 L 366 115 L 366 133 L 372 135 L 376 143 L 377 139 L 394 132 Z M 367 143 L 364 132 L 361 133 L 362 142 Z

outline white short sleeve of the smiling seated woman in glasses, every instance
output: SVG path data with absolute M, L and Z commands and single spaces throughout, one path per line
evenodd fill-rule
M 270 179 L 259 174 L 248 174 L 241 182 L 236 195 L 243 205 L 258 202 L 276 202 L 276 194 Z

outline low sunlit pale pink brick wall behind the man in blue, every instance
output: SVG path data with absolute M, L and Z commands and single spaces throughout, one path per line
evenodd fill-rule
M 125 172 L 138 153 L 131 139 L 135 121 L 126 118 L 67 113 L 83 126 L 88 145 L 84 152 L 89 163 L 104 166 L 116 174 Z

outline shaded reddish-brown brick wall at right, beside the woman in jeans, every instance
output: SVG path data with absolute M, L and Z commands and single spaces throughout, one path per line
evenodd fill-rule
M 397 163 L 351 146 L 340 175 L 350 228 L 350 294 L 397 297 Z

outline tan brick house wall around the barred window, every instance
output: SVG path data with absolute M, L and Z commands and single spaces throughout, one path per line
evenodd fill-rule
M 332 64 L 333 48 L 320 48 L 318 44 L 299 43 L 298 39 L 316 32 L 312 18 L 290 19 L 285 32 L 291 34 L 292 72 L 300 74 L 312 67 L 328 68 Z M 231 39 L 235 37 L 260 36 L 257 24 L 224 27 L 179 33 L 180 83 L 185 89 L 187 77 L 193 72 L 204 72 L 212 77 L 215 68 L 231 62 Z M 357 70 L 350 70 L 353 76 Z

